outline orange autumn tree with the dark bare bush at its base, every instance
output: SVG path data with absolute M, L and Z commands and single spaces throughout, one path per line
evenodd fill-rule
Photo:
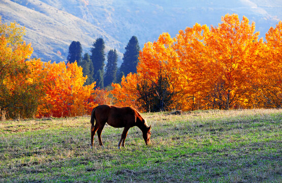
M 149 81 L 151 87 L 154 87 L 153 106 L 159 106 L 156 110 L 170 110 L 180 107 L 172 102 L 180 102 L 177 97 L 183 90 L 181 87 L 183 83 L 180 82 L 184 77 L 180 74 L 182 68 L 179 57 L 174 50 L 175 42 L 175 38 L 171 38 L 168 33 L 163 33 L 157 41 L 146 43 L 143 50 L 140 51 L 137 73 L 141 78 Z M 163 108 L 164 106 L 165 108 Z

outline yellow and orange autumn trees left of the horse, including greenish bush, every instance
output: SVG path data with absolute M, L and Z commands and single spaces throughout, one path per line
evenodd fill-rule
M 86 77 L 77 63 L 44 63 L 29 59 L 30 44 L 22 40 L 24 28 L 3 24 L 0 18 L 0 117 L 77 116 L 90 114 L 109 103 L 106 90 L 83 86 Z

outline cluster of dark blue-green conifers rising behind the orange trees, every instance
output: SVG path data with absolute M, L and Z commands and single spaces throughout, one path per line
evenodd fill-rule
M 139 57 L 139 43 L 136 36 L 133 36 L 122 57 L 122 64 L 117 67 L 117 51 L 112 49 L 107 54 L 107 65 L 105 66 L 105 42 L 98 38 L 93 42 L 90 54 L 85 53 L 82 56 L 82 46 L 79 41 L 73 41 L 69 46 L 67 61 L 69 63 L 77 62 L 83 68 L 83 76 L 87 76 L 85 85 L 96 82 L 96 87 L 104 88 L 111 83 L 118 83 L 122 76 L 129 73 L 136 73 L 136 67 Z

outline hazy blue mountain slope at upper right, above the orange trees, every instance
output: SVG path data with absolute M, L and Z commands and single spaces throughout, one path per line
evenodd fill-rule
M 275 25 L 277 21 L 266 10 L 260 8 L 257 4 L 255 5 L 249 1 L 237 0 L 143 0 L 131 1 L 131 3 L 128 3 L 128 1 L 114 1 L 113 7 L 115 11 L 112 18 L 127 22 L 124 26 L 129 26 L 127 28 L 130 32 L 129 35 L 135 34 L 141 43 L 153 41 L 163 32 L 169 32 L 174 37 L 178 34 L 179 29 L 193 26 L 196 22 L 217 25 L 221 22 L 221 17 L 227 13 L 237 13 L 240 18 L 245 15 L 251 22 L 255 21 L 258 26 L 257 31 L 260 31 L 264 37 L 269 27 Z M 275 9 L 282 12 L 282 4 L 269 3 L 267 5 L 270 11 L 275 7 Z M 123 32 L 121 27 L 117 28 L 120 30 L 118 32 Z M 110 32 L 107 33 L 112 35 Z M 123 39 L 126 39 L 126 37 L 123 37 Z

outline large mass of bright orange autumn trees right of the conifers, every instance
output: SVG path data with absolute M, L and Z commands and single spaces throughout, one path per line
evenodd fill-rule
M 137 74 L 112 85 L 115 103 L 144 110 L 140 99 L 151 103 L 159 88 L 159 99 L 170 100 L 166 110 L 281 107 L 281 26 L 270 28 L 267 43 L 236 14 L 210 28 L 196 23 L 176 38 L 164 33 L 140 51 Z

